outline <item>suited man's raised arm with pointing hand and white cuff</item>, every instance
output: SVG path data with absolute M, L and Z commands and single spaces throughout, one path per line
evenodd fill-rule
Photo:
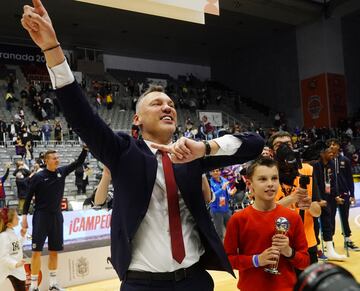
M 116 148 L 121 154 L 128 147 L 130 138 L 126 134 L 114 134 L 93 112 L 65 60 L 51 19 L 40 0 L 33 0 L 33 7 L 24 6 L 21 23 L 45 55 L 50 78 L 66 120 L 94 156 L 111 166 L 116 162 L 111 154 L 113 149 Z

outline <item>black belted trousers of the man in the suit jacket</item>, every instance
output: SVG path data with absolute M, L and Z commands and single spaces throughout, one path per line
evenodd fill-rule
M 120 291 L 213 291 L 214 281 L 210 274 L 201 270 L 190 278 L 181 281 L 124 280 Z

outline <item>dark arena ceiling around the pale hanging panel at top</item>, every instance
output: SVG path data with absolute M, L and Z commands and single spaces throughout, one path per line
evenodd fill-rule
M 209 64 L 254 42 L 310 23 L 360 9 L 359 0 L 220 0 L 220 16 L 193 24 L 73 0 L 44 5 L 64 47 L 86 47 L 110 54 Z M 0 1 L 0 42 L 31 44 L 20 25 L 22 6 L 30 1 Z M 342 15 L 340 15 L 342 16 Z

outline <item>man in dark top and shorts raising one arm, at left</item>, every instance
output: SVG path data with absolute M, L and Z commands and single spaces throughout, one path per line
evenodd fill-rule
M 22 227 L 28 228 L 27 214 L 35 195 L 35 211 L 32 219 L 31 285 L 29 291 L 38 291 L 38 274 L 41 267 L 41 252 L 48 238 L 49 290 L 64 290 L 56 279 L 57 253 L 63 250 L 63 216 L 61 201 L 64 195 L 65 179 L 85 161 L 88 149 L 83 148 L 78 159 L 70 165 L 59 167 L 59 155 L 54 150 L 45 153 L 46 168 L 30 180 L 29 193 L 23 209 Z

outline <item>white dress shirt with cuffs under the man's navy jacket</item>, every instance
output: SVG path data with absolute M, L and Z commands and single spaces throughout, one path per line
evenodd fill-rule
M 54 88 L 61 88 L 74 81 L 66 61 L 49 69 L 49 73 Z M 225 135 L 214 141 L 220 147 L 216 155 L 233 155 L 241 146 L 241 140 L 232 135 Z M 185 246 L 185 258 L 179 264 L 173 259 L 171 253 L 168 205 L 161 154 L 150 146 L 150 141 L 145 142 L 152 153 L 156 155 L 158 167 L 148 210 L 132 240 L 132 259 L 129 270 L 172 272 L 190 267 L 198 262 L 200 256 L 205 252 L 195 220 L 186 207 L 181 193 L 178 192 Z

